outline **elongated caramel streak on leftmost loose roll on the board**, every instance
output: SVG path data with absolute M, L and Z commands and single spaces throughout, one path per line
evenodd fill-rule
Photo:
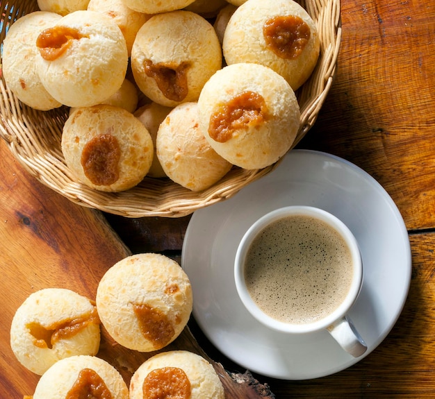
M 99 324 L 96 307 L 92 309 L 92 312 L 82 314 L 75 319 L 60 320 L 45 327 L 40 323 L 29 323 L 26 327 L 35 337 L 33 341 L 35 346 L 51 349 L 57 341 L 74 337 L 75 334 L 86 328 L 90 323 Z

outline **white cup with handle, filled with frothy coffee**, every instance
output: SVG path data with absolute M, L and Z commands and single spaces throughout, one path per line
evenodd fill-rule
M 283 226 L 286 232 L 281 230 Z M 319 238 L 320 236 L 323 238 Z M 335 237 L 332 242 L 329 242 L 330 237 Z M 286 243 L 283 244 L 281 239 L 286 239 Z M 275 248 L 266 248 L 267 240 Z M 329 248 L 331 245 L 334 249 L 307 249 L 314 242 L 321 244 L 316 248 Z M 302 249 L 301 253 L 296 251 L 296 246 L 308 247 Z M 328 256 L 324 255 L 325 251 Z M 286 252 L 293 253 L 288 264 L 287 260 L 265 260 L 270 257 L 275 259 L 280 256 L 279 253 Z M 336 265 L 340 265 L 338 271 L 334 271 Z M 259 270 L 254 267 L 263 267 L 263 270 L 261 273 L 254 273 L 251 270 Z M 289 268 L 291 273 L 288 273 Z M 336 277 L 331 278 L 331 275 Z M 293 205 L 265 214 L 245 232 L 238 245 L 234 278 L 238 295 L 246 309 L 268 328 L 288 334 L 327 330 L 350 355 L 359 357 L 366 352 L 366 343 L 347 316 L 359 295 L 363 281 L 361 253 L 349 228 L 329 212 L 316 207 Z M 251 282 L 247 282 L 246 278 Z M 263 289 L 263 285 L 266 288 Z M 280 285 L 284 287 L 279 288 Z M 279 294 L 276 298 L 275 293 Z M 286 300 L 290 300 L 291 306 L 281 302 L 279 305 L 268 306 L 271 297 L 275 301 L 281 301 L 283 296 L 288 296 Z M 296 298 L 289 299 L 290 296 Z M 331 303 L 325 305 L 328 301 Z M 296 312 L 296 309 L 299 310 Z M 322 313 L 325 314 L 318 316 Z M 287 320 L 287 317 L 293 319 Z

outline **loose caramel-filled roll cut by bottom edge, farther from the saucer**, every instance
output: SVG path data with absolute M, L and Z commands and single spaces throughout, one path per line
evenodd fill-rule
M 94 356 L 72 356 L 47 370 L 36 385 L 33 399 L 129 399 L 129 388 L 115 367 Z

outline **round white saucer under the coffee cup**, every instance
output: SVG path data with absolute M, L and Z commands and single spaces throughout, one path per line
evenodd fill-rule
M 199 327 L 224 355 L 250 371 L 306 380 L 341 371 L 363 357 L 345 353 L 326 331 L 287 336 L 268 330 L 243 307 L 233 281 L 244 232 L 284 205 L 327 210 L 359 241 L 364 280 L 350 318 L 368 345 L 363 357 L 384 340 L 402 312 L 411 249 L 404 221 L 384 188 L 354 164 L 317 151 L 290 151 L 268 176 L 192 215 L 181 264 L 192 283 Z

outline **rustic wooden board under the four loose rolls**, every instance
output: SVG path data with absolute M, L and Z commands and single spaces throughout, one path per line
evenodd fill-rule
M 0 398 L 31 395 L 38 375 L 17 362 L 10 349 L 10 323 L 32 292 L 63 287 L 95 299 L 106 270 L 131 254 L 100 212 L 79 207 L 30 176 L 0 140 Z M 102 328 L 99 357 L 122 373 L 126 382 L 151 355 L 117 345 Z M 186 328 L 164 350 L 183 349 L 210 360 L 227 399 L 272 398 L 268 387 L 249 373 L 230 376 L 211 360 Z

